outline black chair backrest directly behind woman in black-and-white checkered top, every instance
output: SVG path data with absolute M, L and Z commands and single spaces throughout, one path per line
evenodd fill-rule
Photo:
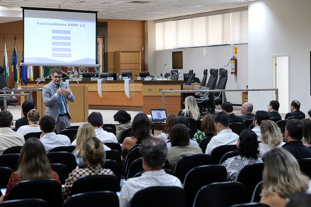
M 78 178 L 71 188 L 71 194 L 91 191 L 113 191 L 120 190 L 120 180 L 117 175 L 88 175 Z

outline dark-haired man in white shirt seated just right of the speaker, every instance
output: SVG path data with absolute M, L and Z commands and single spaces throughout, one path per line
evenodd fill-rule
M 117 137 L 113 133 L 103 129 L 103 116 L 100 112 L 91 112 L 87 117 L 87 122 L 94 127 L 96 137 L 102 143 L 118 143 Z

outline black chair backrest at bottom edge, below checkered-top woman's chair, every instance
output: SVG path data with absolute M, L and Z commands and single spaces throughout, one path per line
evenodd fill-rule
M 64 207 L 119 207 L 119 198 L 112 191 L 83 192 L 72 195 Z

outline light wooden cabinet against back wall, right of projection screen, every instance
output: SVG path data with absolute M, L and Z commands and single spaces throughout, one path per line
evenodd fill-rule
M 139 76 L 141 71 L 140 51 L 115 51 L 115 73 L 121 75 L 122 71 L 132 71 Z

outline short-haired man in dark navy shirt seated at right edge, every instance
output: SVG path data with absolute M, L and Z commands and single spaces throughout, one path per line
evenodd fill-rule
M 301 141 L 304 129 L 303 122 L 298 119 L 289 120 L 285 126 L 285 144 L 282 147 L 292 153 L 296 159 L 311 158 L 311 149 Z

